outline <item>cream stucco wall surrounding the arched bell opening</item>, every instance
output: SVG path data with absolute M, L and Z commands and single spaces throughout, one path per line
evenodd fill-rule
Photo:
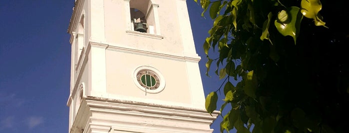
M 166 0 L 158 7 L 159 24 L 163 39 L 153 39 L 126 33 L 127 9 L 123 0 L 104 0 L 105 40 L 110 45 L 126 46 L 145 51 L 182 55 L 179 20 L 174 0 Z M 129 10 L 129 9 L 128 9 Z

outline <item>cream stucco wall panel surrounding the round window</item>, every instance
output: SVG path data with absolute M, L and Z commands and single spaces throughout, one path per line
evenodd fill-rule
M 106 51 L 106 62 L 109 94 L 162 100 L 162 103 L 157 104 L 166 104 L 166 101 L 191 104 L 191 92 L 184 62 L 111 50 Z M 163 91 L 146 94 L 136 86 L 133 73 L 140 66 L 154 67 L 161 72 L 166 81 Z M 110 98 L 119 99 L 119 97 Z

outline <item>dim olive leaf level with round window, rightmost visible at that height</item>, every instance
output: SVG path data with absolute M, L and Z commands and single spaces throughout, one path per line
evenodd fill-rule
M 257 89 L 257 77 L 254 75 L 253 70 L 249 71 L 246 75 L 244 91 L 246 95 L 256 99 Z

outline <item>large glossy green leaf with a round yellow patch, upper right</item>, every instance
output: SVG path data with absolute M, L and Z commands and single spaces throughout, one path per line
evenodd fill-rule
M 282 35 L 293 37 L 296 44 L 302 19 L 303 15 L 301 14 L 300 8 L 292 6 L 287 8 L 286 11 L 280 11 L 278 19 L 275 20 L 274 24 Z

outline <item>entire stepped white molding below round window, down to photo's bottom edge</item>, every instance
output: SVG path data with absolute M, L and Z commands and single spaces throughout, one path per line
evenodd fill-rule
M 219 111 L 214 111 L 211 116 L 203 109 L 92 96 L 84 97 L 83 105 L 79 111 L 81 110 L 84 111 L 82 114 L 78 114 L 79 117 L 86 118 L 87 116 L 88 119 L 84 120 L 85 124 L 79 122 L 80 126 L 85 125 L 83 133 L 91 133 L 91 131 L 103 131 L 103 133 L 118 133 L 118 131 L 133 133 L 154 133 L 154 131 L 158 133 L 212 133 L 213 130 L 209 128 L 209 125 L 220 114 Z

